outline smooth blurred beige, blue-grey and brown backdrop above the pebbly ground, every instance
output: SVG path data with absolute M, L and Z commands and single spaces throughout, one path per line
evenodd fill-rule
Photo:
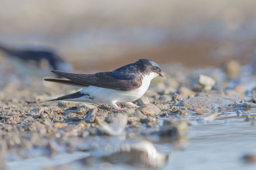
M 0 43 L 53 48 L 87 72 L 139 58 L 190 66 L 221 65 L 231 58 L 247 64 L 255 55 L 255 5 L 255 0 L 1 0 Z

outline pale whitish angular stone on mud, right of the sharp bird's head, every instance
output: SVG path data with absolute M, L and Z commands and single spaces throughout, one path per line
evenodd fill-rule
M 201 74 L 192 81 L 191 85 L 194 91 L 210 91 L 212 86 L 215 85 L 215 79 Z

